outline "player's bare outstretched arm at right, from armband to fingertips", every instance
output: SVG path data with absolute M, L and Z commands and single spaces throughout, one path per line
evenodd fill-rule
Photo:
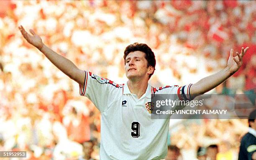
M 233 57 L 234 50 L 230 50 L 230 56 L 228 58 L 227 67 L 216 74 L 207 76 L 197 83 L 193 84 L 190 88 L 190 94 L 204 94 L 207 91 L 214 89 L 223 81 L 232 76 L 242 65 L 242 58 L 249 47 L 245 49 L 242 47 L 241 53 L 236 52 L 236 56 Z

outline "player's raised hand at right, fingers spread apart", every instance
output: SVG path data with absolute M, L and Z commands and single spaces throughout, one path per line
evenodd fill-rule
M 242 66 L 243 56 L 246 53 L 246 51 L 248 50 L 248 48 L 249 47 L 246 47 L 244 49 L 242 47 L 241 48 L 241 53 L 236 52 L 235 57 L 233 57 L 234 50 L 233 49 L 230 50 L 230 55 L 229 55 L 229 58 L 228 58 L 228 66 L 227 66 L 230 73 L 234 74 Z

